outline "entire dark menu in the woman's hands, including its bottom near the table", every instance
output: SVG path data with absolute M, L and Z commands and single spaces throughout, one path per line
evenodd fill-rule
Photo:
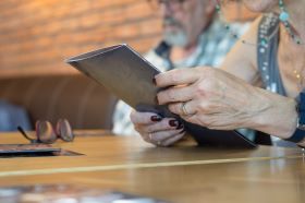
M 127 45 L 94 50 L 65 60 L 87 76 L 138 111 L 156 112 L 162 117 L 182 120 L 156 101 L 157 88 L 152 79 L 160 71 Z M 183 121 L 183 120 L 182 120 Z M 256 147 L 256 144 L 236 131 L 215 131 L 183 121 L 199 145 Z

